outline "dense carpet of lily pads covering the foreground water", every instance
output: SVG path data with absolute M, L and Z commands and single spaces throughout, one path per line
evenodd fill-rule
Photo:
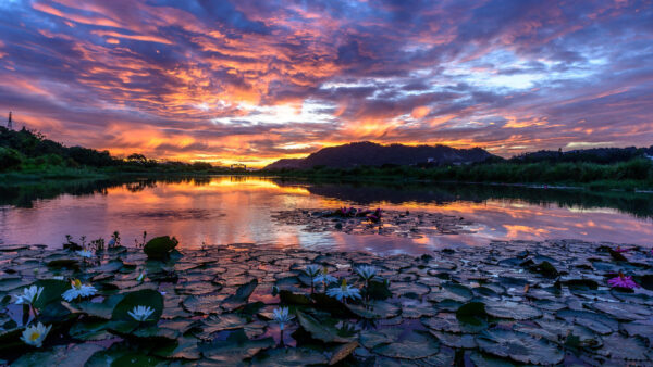
M 653 360 L 653 258 L 646 248 L 510 241 L 382 257 L 231 244 L 182 250 L 167 261 L 122 246 L 86 260 L 67 250 L 0 250 L 8 311 L 0 359 L 16 365 Z M 325 295 L 320 279 L 311 294 L 309 265 L 336 279 L 329 289 L 346 280 L 350 296 Z M 70 286 L 56 277 L 81 279 L 97 293 L 65 302 L 58 293 Z M 625 287 L 612 287 L 617 283 Z M 20 340 L 22 307 L 5 296 L 32 284 L 46 288 L 48 307 L 37 305 L 37 320 L 52 326 L 39 349 Z M 153 294 L 161 294 L 160 304 Z M 134 302 L 151 306 L 151 319 L 130 321 L 122 309 Z M 288 307 L 289 317 L 275 316 L 279 307 Z

